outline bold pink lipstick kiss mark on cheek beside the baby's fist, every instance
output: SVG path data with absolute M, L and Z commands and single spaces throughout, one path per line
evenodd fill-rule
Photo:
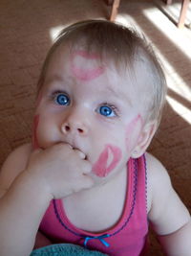
M 108 166 L 109 161 L 109 153 L 112 154 L 112 161 Z M 117 163 L 121 159 L 121 151 L 119 148 L 113 145 L 106 145 L 105 149 L 101 152 L 96 161 L 95 165 L 93 166 L 93 173 L 95 173 L 99 177 L 107 176 L 114 170 L 117 166 Z

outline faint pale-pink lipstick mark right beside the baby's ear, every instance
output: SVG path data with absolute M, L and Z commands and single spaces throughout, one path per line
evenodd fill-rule
M 138 131 L 142 125 L 142 118 L 138 114 L 128 125 L 125 131 L 125 144 L 127 151 L 131 150 L 134 139 L 138 136 Z

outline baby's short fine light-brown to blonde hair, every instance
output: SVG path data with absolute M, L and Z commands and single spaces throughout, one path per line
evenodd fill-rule
M 166 80 L 159 59 L 143 35 L 139 35 L 136 30 L 106 20 L 77 22 L 60 32 L 44 61 L 38 81 L 38 92 L 43 85 L 55 49 L 59 45 L 67 45 L 70 51 L 79 44 L 88 52 L 96 51 L 100 59 L 110 58 L 117 67 L 123 66 L 125 70 L 133 71 L 135 74 L 136 63 L 139 62 L 142 67 L 146 66 L 145 72 L 149 73 L 147 79 L 150 80 L 147 81 L 147 120 L 160 120 L 165 102 Z

